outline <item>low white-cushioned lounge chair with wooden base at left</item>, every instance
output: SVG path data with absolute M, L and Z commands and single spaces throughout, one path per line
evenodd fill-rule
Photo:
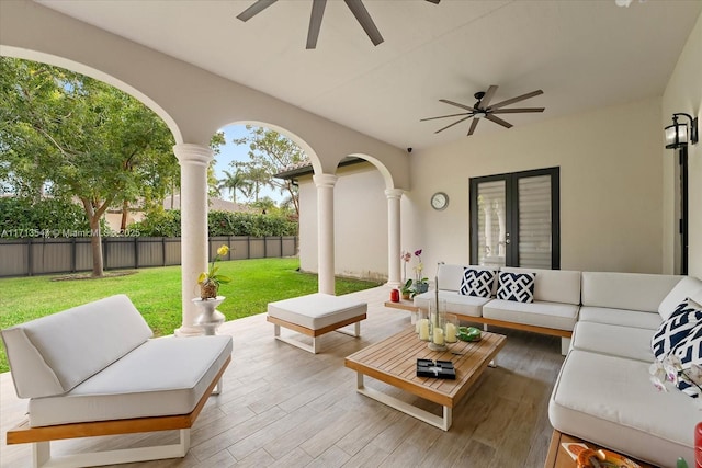
M 2 330 L 16 393 L 29 399 L 27 421 L 8 432 L 8 444 L 33 443 L 37 467 L 185 456 L 231 336 L 151 334 L 124 295 Z M 163 430 L 179 430 L 179 444 L 50 456 L 57 438 Z

